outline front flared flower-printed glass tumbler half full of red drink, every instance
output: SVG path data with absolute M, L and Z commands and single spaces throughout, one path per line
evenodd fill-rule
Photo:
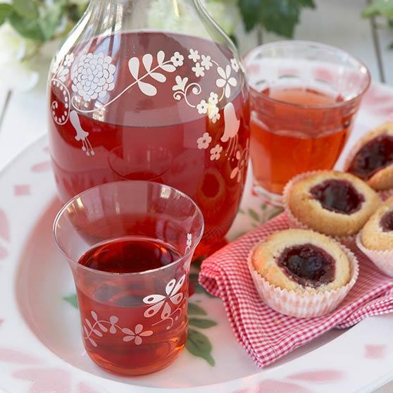
M 142 375 L 165 368 L 180 354 L 187 339 L 189 266 L 203 231 L 194 201 L 156 182 L 99 185 L 61 208 L 54 238 L 73 272 L 85 349 L 101 368 Z M 176 258 L 150 270 L 135 266 L 136 273 L 81 264 L 92 249 L 94 258 L 100 245 L 122 239 L 159 244 L 159 253 L 169 250 Z M 127 265 L 138 258 L 140 253 Z

